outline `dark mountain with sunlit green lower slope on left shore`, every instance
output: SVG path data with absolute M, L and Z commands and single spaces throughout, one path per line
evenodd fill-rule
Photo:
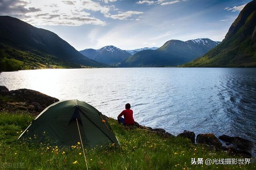
M 80 54 L 57 34 L 0 16 L 0 69 L 104 67 Z

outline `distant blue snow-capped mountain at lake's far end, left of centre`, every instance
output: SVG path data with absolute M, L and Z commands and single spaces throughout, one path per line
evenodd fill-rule
M 113 45 L 105 46 L 100 49 L 84 49 L 79 52 L 90 59 L 109 65 L 118 63 L 131 55 L 128 51 L 122 50 Z

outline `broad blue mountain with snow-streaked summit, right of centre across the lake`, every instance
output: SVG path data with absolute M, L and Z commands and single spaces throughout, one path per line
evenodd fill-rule
M 216 47 L 220 42 L 208 38 L 170 40 L 156 50 L 143 50 L 117 64 L 118 67 L 164 67 L 176 66 L 192 61 Z

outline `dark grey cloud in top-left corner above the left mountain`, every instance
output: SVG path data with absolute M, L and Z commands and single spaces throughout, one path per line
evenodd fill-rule
M 40 8 L 26 7 L 29 3 L 24 0 L 0 0 L 0 15 L 22 16 L 31 12 L 39 12 Z

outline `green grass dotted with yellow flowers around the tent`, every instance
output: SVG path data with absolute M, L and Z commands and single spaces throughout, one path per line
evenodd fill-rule
M 25 169 L 86 169 L 80 144 L 70 148 L 56 148 L 32 140 L 16 141 L 32 122 L 28 113 L 0 112 L 0 162 L 18 164 Z M 242 158 L 226 152 L 210 151 L 184 138 L 163 138 L 144 129 L 127 129 L 114 119 L 109 123 L 121 146 L 86 150 L 90 169 L 102 170 L 188 170 L 188 169 L 256 169 L 249 165 L 191 165 L 191 158 Z M 80 154 L 81 153 L 81 154 Z M 15 164 L 16 163 L 16 164 Z M 14 169 L 14 168 L 13 168 Z

